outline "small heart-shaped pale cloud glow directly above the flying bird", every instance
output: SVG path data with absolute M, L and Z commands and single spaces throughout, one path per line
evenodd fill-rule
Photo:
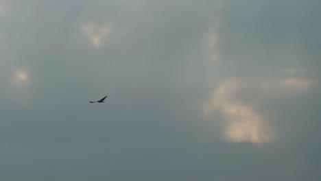
M 108 25 L 97 27 L 93 23 L 86 23 L 81 27 L 81 31 L 90 38 L 91 43 L 96 48 L 99 48 L 102 47 L 104 40 L 110 36 L 111 29 Z

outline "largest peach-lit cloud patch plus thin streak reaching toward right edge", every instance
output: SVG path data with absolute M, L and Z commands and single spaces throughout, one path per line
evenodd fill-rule
M 202 109 L 206 119 L 211 119 L 213 110 L 219 110 L 227 118 L 224 137 L 228 141 L 249 141 L 252 143 L 270 142 L 275 140 L 267 120 L 254 108 L 244 104 L 237 93 L 250 88 L 260 95 L 301 93 L 313 86 L 311 80 L 285 77 L 276 80 L 228 80 L 213 91 L 209 101 Z M 298 92 L 300 91 L 300 92 Z

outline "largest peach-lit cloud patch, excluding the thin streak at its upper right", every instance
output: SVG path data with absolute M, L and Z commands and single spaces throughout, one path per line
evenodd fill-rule
M 228 117 L 224 128 L 224 137 L 228 141 L 262 143 L 272 141 L 265 120 L 252 108 L 235 99 L 235 91 L 241 84 L 225 82 L 213 92 L 213 97 L 204 107 L 204 114 L 209 117 L 213 110 L 220 110 Z

